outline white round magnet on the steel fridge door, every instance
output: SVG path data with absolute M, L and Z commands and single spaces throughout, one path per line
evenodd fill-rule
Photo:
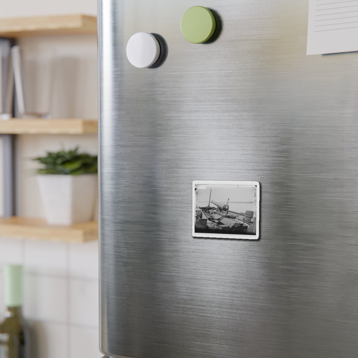
M 137 32 L 128 40 L 126 53 L 134 67 L 148 68 L 158 60 L 160 45 L 152 34 Z

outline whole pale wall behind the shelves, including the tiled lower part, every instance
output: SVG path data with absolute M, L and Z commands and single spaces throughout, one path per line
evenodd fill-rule
M 96 0 L 1 0 L 0 21 L 25 16 L 97 13 Z M 17 44 L 41 54 L 54 53 L 53 118 L 97 118 L 96 34 L 20 38 Z M 44 218 L 30 160 L 61 148 L 97 154 L 97 135 L 18 135 L 16 148 L 17 214 Z M 0 170 L 2 170 L 0 140 Z M 3 214 L 0 173 L 0 216 Z M 98 241 L 66 243 L 18 240 L 0 232 L 0 314 L 4 312 L 3 266 L 25 270 L 24 317 L 35 329 L 38 358 L 98 358 Z

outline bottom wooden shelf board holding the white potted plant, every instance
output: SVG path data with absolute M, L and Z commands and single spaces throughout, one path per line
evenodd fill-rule
M 42 219 L 21 217 L 0 218 L 0 236 L 47 241 L 85 242 L 98 240 L 98 223 L 95 221 L 71 226 L 48 225 Z

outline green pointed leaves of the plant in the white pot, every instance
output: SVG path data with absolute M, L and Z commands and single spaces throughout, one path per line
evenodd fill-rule
M 97 155 L 78 153 L 78 147 L 74 150 L 51 153 L 47 156 L 34 158 L 45 165 L 45 168 L 38 169 L 38 174 L 96 174 L 97 173 Z

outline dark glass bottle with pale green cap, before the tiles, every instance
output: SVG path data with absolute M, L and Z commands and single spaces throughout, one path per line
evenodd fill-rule
M 5 319 L 0 324 L 0 358 L 28 358 L 23 304 L 23 267 L 4 266 Z

